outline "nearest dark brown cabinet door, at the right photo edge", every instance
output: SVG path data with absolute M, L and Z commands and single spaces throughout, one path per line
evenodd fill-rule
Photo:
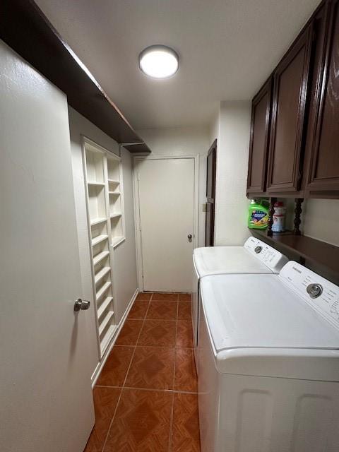
M 338 0 L 323 8 L 316 37 L 316 74 L 307 134 L 309 196 L 339 198 L 339 11 Z

